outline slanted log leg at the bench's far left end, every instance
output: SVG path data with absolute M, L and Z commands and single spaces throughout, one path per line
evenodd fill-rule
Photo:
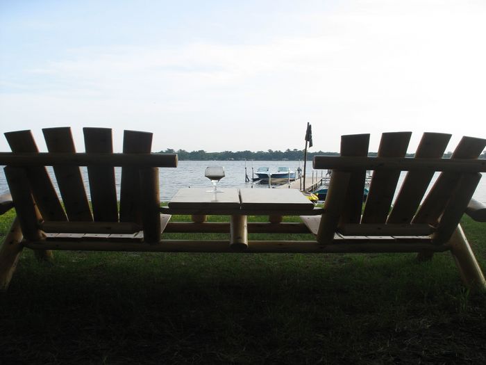
M 0 291 L 6 291 L 12 275 L 17 268 L 20 253 L 22 252 L 22 231 L 19 220 L 15 218 L 5 241 L 0 248 Z

